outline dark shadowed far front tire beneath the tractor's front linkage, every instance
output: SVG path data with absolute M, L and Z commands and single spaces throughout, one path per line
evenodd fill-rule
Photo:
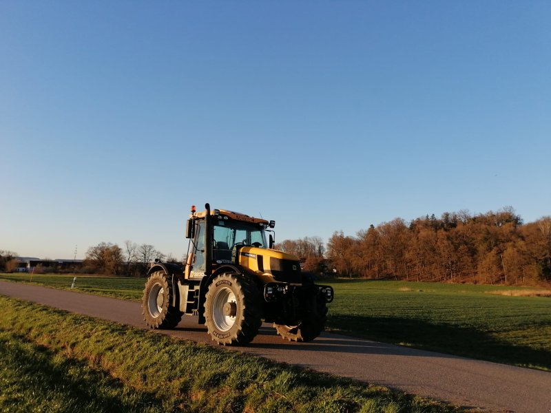
M 326 301 L 320 293 L 316 293 L 312 295 L 308 312 L 298 326 L 285 326 L 284 324 L 275 323 L 273 326 L 278 335 L 284 340 L 312 341 L 323 331 L 326 319 Z

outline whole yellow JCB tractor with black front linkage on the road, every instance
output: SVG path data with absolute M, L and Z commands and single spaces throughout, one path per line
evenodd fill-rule
M 149 268 L 142 312 L 151 328 L 174 328 L 198 316 L 214 341 L 249 343 L 262 321 L 290 341 L 320 335 L 333 288 L 314 284 L 295 255 L 273 249 L 274 221 L 210 209 L 191 215 L 184 266 L 156 260 Z M 270 232 L 267 242 L 267 232 Z

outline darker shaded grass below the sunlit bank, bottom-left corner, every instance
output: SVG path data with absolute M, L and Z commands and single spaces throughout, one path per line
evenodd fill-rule
M 0 330 L 0 383 L 3 412 L 162 411 L 147 392 L 12 331 Z

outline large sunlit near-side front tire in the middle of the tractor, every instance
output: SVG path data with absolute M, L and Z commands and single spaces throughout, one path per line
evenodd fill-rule
M 258 288 L 244 275 L 218 275 L 205 297 L 205 326 L 222 346 L 247 344 L 262 325 Z

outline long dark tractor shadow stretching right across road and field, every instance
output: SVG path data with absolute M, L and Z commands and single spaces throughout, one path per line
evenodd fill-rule
M 279 337 L 274 328 L 264 324 L 257 338 L 249 343 L 249 347 L 259 350 L 286 348 L 297 351 L 354 354 L 470 357 L 551 369 L 551 351 L 514 345 L 501 341 L 488 332 L 473 328 L 430 324 L 421 320 L 399 317 L 361 316 L 332 317 L 328 326 L 331 332 L 322 332 L 322 335 L 313 341 L 291 343 Z M 351 337 L 354 333 L 363 338 Z M 280 343 L 277 343 L 278 339 Z

